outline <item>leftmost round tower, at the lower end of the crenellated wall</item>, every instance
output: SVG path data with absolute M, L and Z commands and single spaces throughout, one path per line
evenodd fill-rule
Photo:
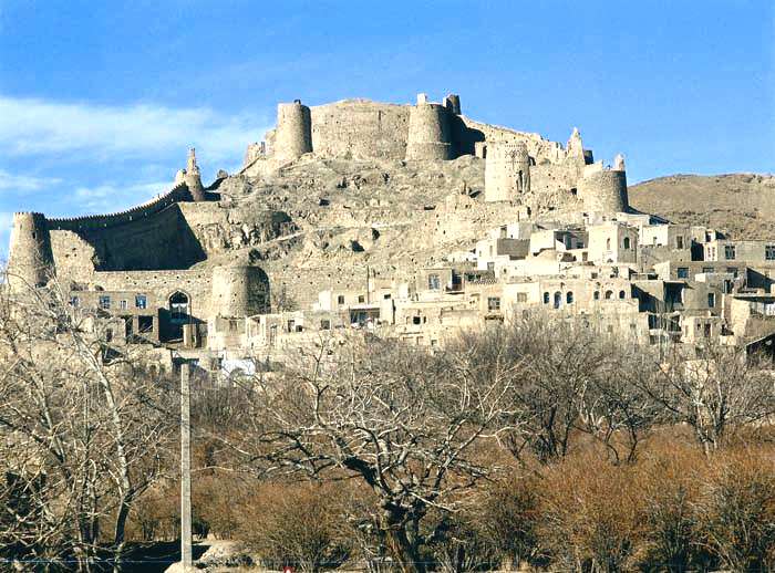
M 12 291 L 43 286 L 54 272 L 51 236 L 45 216 L 39 212 L 13 215 L 8 252 L 8 283 Z

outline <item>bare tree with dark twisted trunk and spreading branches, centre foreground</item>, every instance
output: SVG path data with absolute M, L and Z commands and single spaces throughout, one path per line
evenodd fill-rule
M 458 493 L 493 468 L 476 445 L 521 424 L 510 400 L 519 368 L 480 347 L 431 354 L 369 335 L 331 340 L 294 368 L 258 381 L 235 445 L 262 473 L 355 479 L 374 493 L 378 534 L 402 571 L 422 571 L 431 508 L 454 511 Z M 484 365 L 487 368 L 484 368 Z

